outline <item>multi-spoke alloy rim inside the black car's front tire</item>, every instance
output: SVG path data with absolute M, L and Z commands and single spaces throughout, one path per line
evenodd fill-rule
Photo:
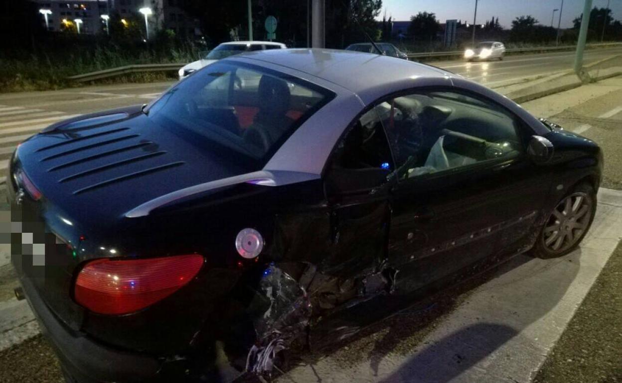
M 544 248 L 562 253 L 581 240 L 592 219 L 592 198 L 575 192 L 557 204 L 542 232 Z

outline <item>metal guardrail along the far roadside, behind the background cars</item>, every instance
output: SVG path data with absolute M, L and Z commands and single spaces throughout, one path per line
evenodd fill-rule
M 622 47 L 622 43 L 595 43 L 588 44 L 588 47 Z M 568 50 L 575 48 L 575 45 L 564 45 L 564 47 L 540 47 L 540 48 L 509 48 L 507 53 L 518 52 L 550 52 L 555 50 Z M 425 58 L 425 57 L 449 57 L 449 56 L 462 56 L 464 52 L 451 51 L 451 52 L 427 52 L 427 53 L 410 53 L 408 58 Z M 96 71 L 85 74 L 77 74 L 70 76 L 68 79 L 77 81 L 78 83 L 84 83 L 86 81 L 93 81 L 96 79 L 109 78 L 119 76 L 119 74 L 137 73 L 137 72 L 167 72 L 177 71 L 186 63 L 171 63 L 171 64 L 136 64 L 119 66 L 118 68 L 106 69 L 103 71 Z

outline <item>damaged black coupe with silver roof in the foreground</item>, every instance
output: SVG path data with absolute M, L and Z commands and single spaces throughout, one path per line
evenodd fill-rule
M 248 52 L 22 142 L 12 264 L 68 382 L 263 375 L 517 254 L 569 253 L 602 166 L 432 66 Z

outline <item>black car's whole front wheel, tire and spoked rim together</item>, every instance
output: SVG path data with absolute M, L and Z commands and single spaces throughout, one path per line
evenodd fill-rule
M 592 226 L 596 191 L 588 183 L 573 187 L 549 212 L 536 238 L 532 253 L 549 259 L 575 250 Z

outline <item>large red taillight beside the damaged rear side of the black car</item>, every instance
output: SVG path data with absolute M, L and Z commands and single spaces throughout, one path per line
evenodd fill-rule
M 125 314 L 173 294 L 195 277 L 203 264 L 197 254 L 149 259 L 97 259 L 78 274 L 75 299 L 102 314 Z

